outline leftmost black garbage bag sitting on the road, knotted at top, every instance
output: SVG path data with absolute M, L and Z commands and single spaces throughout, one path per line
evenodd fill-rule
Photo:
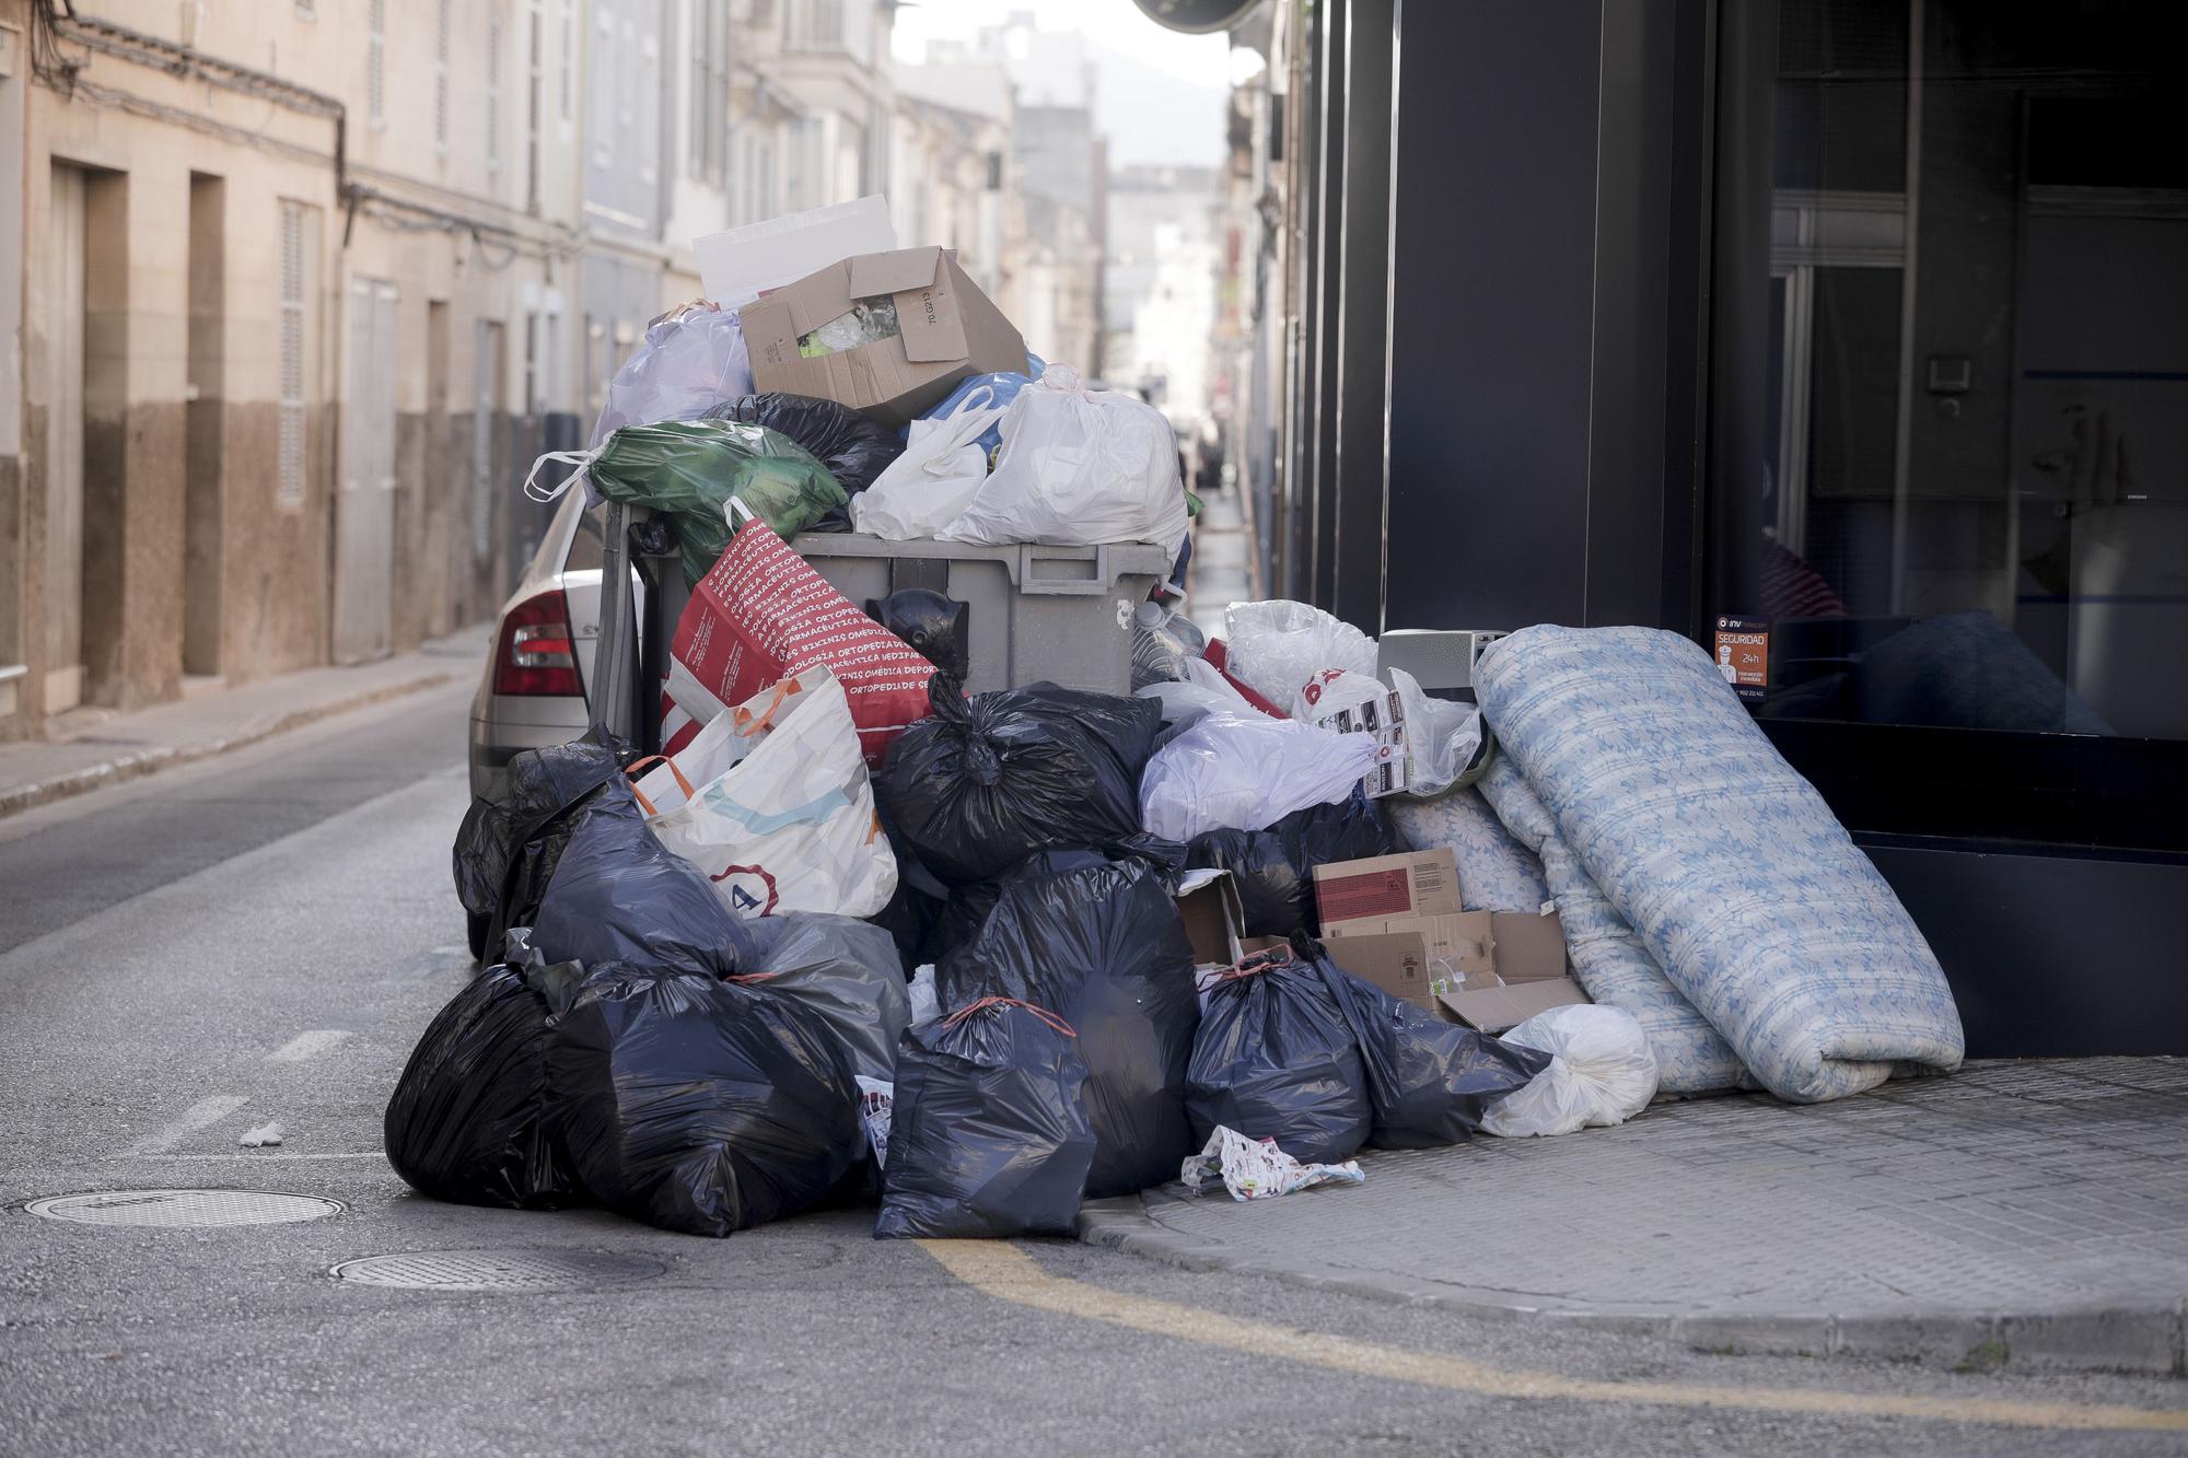
M 512 961 L 473 976 L 411 1049 L 387 1099 L 387 1162 L 435 1200 L 551 1211 L 584 1193 L 547 1125 L 547 970 L 516 965 L 512 941 Z

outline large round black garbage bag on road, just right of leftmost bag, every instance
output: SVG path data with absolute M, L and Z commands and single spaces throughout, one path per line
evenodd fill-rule
M 796 1215 L 866 1154 L 827 1025 L 709 974 L 589 976 L 556 1027 L 547 1088 L 584 1189 L 663 1230 L 720 1237 Z

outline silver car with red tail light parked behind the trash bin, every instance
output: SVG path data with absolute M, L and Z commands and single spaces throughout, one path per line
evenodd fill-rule
M 516 591 L 501 604 L 494 652 L 470 701 L 473 795 L 499 799 L 519 751 L 567 744 L 586 729 L 606 512 L 606 506 L 586 510 L 580 490 L 565 495 Z

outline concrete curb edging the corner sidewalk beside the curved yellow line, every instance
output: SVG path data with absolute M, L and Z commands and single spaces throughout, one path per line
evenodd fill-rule
M 1269 1276 L 1319 1292 L 1346 1292 L 1398 1305 L 1431 1305 L 1494 1320 L 1532 1320 L 1586 1331 L 1648 1335 L 1691 1351 L 1726 1355 L 1875 1357 L 1960 1370 L 2048 1368 L 2188 1377 L 2188 1298 L 2138 1309 L 1875 1314 L 1812 1311 L 1610 1311 L 1532 1307 L 1396 1272 L 1271 1259 L 1182 1235 L 1157 1222 L 1144 1195 L 1090 1200 L 1079 1208 L 1079 1239 L 1105 1250 L 1179 1265 Z

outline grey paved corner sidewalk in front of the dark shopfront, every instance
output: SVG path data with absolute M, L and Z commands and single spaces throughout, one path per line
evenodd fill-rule
M 1700 1349 L 2188 1375 L 2188 1060 L 1656 1103 L 1361 1167 L 1256 1204 L 1096 1202 L 1081 1239 Z

